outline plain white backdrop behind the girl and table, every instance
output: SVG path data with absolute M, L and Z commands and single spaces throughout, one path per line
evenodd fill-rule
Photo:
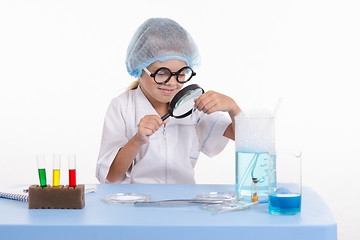
M 37 183 L 35 154 L 51 166 L 68 152 L 78 182 L 97 183 L 105 111 L 134 80 L 130 38 L 147 18 L 170 17 L 199 46 L 194 82 L 205 90 L 244 110 L 283 98 L 277 146 L 303 150 L 303 184 L 332 209 L 339 239 L 359 239 L 359 12 L 356 0 L 0 0 L 1 185 Z M 234 162 L 233 143 L 202 155 L 197 182 L 233 184 Z

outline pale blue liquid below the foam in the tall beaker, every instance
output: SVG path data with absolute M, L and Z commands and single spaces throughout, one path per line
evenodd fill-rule
M 235 192 L 242 198 L 251 196 L 252 178 L 259 181 L 259 196 L 268 196 L 268 153 L 236 152 Z

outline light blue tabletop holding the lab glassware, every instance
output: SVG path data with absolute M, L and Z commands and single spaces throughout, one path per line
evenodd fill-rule
M 234 191 L 233 185 L 96 185 L 81 210 L 28 209 L 27 202 L 0 198 L 0 239 L 337 239 L 336 222 L 324 201 L 303 188 L 302 212 L 268 214 L 267 204 L 239 212 L 214 213 L 197 206 L 178 208 L 108 204 L 107 194 L 137 192 L 152 200 L 193 198 Z

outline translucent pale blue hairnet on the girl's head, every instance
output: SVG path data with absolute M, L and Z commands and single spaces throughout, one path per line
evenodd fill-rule
M 199 53 L 190 34 L 168 18 L 150 18 L 135 32 L 126 54 L 130 75 L 140 77 L 142 69 L 156 61 L 177 59 L 193 68 Z

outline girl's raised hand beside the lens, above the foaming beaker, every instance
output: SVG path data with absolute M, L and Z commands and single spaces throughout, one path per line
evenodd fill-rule
M 228 112 L 231 118 L 241 111 L 232 98 L 214 91 L 208 91 L 195 99 L 195 107 L 207 114 L 216 111 Z

